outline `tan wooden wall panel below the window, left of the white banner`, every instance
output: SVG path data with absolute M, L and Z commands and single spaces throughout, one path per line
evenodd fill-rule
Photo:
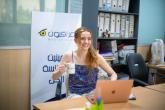
M 0 49 L 0 110 L 30 109 L 30 49 Z

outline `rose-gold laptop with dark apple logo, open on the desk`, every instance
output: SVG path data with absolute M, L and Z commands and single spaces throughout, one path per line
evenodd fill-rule
M 87 96 L 91 103 L 101 97 L 103 103 L 127 102 L 131 94 L 133 80 L 98 80 L 93 95 Z

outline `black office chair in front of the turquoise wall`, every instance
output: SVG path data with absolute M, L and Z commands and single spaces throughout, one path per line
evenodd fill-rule
M 148 86 L 149 71 L 145 61 L 139 53 L 129 53 L 126 56 L 130 77 L 134 86 Z

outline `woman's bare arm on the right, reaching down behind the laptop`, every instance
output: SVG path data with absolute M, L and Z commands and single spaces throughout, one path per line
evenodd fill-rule
M 108 65 L 107 61 L 100 54 L 98 54 L 98 63 L 104 71 L 111 75 L 111 80 L 117 80 L 116 72 Z

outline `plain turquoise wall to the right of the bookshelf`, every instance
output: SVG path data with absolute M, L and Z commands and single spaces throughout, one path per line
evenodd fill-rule
M 138 45 L 149 45 L 156 38 L 164 39 L 164 7 L 164 0 L 140 0 Z

